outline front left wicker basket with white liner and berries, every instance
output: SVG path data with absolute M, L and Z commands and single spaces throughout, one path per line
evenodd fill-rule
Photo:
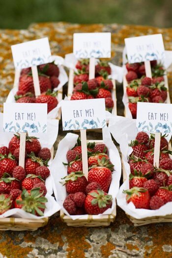
M 51 134 L 27 135 L 24 168 L 19 166 L 20 134 L 0 128 L 0 230 L 36 230 L 59 210 L 50 174 L 58 120 L 49 119 L 47 126 Z

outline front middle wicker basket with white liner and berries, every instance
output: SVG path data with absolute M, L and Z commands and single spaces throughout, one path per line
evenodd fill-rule
M 103 141 L 87 141 L 87 180 L 77 139 L 78 135 L 68 133 L 60 141 L 55 157 L 57 166 L 51 170 L 60 217 L 73 227 L 109 226 L 116 216 L 115 197 L 121 175 L 119 153 L 108 128 L 103 128 Z

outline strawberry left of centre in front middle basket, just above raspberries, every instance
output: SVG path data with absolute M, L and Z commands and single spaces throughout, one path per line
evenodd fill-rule
M 86 193 L 86 186 L 88 182 L 82 172 L 72 172 L 62 179 L 65 180 L 62 183 L 66 186 L 66 191 L 68 194 L 75 194 L 77 192 Z

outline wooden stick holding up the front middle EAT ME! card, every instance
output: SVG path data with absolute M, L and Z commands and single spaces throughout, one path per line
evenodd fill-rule
M 82 129 L 81 132 L 81 149 L 82 149 L 82 161 L 83 161 L 83 173 L 88 179 L 88 158 L 87 158 L 87 144 L 86 144 L 86 130 Z

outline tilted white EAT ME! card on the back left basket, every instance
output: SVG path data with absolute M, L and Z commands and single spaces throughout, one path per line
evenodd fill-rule
M 15 69 L 48 63 L 51 58 L 47 37 L 13 45 L 11 51 Z

